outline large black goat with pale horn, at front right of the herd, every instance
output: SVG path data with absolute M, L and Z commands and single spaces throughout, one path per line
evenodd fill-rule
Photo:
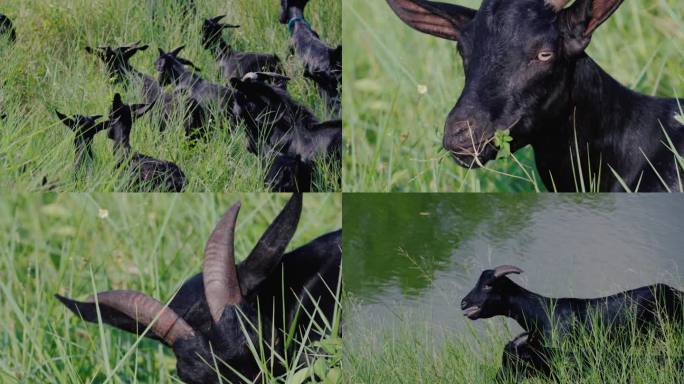
M 250 152 L 265 161 L 276 156 L 266 179 L 271 190 L 306 192 L 316 159 L 341 166 L 342 122 L 319 123 L 309 109 L 263 80 L 258 74 L 231 79 L 234 115 L 245 122 Z

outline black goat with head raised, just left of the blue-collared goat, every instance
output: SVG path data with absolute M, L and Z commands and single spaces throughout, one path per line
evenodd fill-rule
M 202 45 L 216 56 L 221 75 L 224 79 L 242 77 L 250 72 L 284 73 L 280 58 L 275 54 L 238 52 L 221 36 L 226 28 L 239 28 L 239 25 L 222 24 L 223 16 L 204 20 L 202 26 Z

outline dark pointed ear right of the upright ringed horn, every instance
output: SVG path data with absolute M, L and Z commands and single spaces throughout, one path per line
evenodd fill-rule
M 285 248 L 297 230 L 301 214 L 302 194 L 295 193 L 261 235 L 249 256 L 240 263 L 238 275 L 240 288 L 245 296 L 253 292 L 269 276 L 273 268 L 280 264 Z

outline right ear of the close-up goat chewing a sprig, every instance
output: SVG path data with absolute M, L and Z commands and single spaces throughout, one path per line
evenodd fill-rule
M 577 0 L 560 11 L 559 22 L 565 50 L 570 55 L 584 51 L 591 35 L 622 4 L 623 0 Z

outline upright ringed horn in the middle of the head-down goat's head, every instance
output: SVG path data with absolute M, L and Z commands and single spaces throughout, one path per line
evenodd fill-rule
M 226 211 L 216 224 L 204 248 L 204 296 L 214 322 L 218 322 L 223 309 L 242 301 L 240 283 L 235 268 L 235 222 L 240 203 Z

